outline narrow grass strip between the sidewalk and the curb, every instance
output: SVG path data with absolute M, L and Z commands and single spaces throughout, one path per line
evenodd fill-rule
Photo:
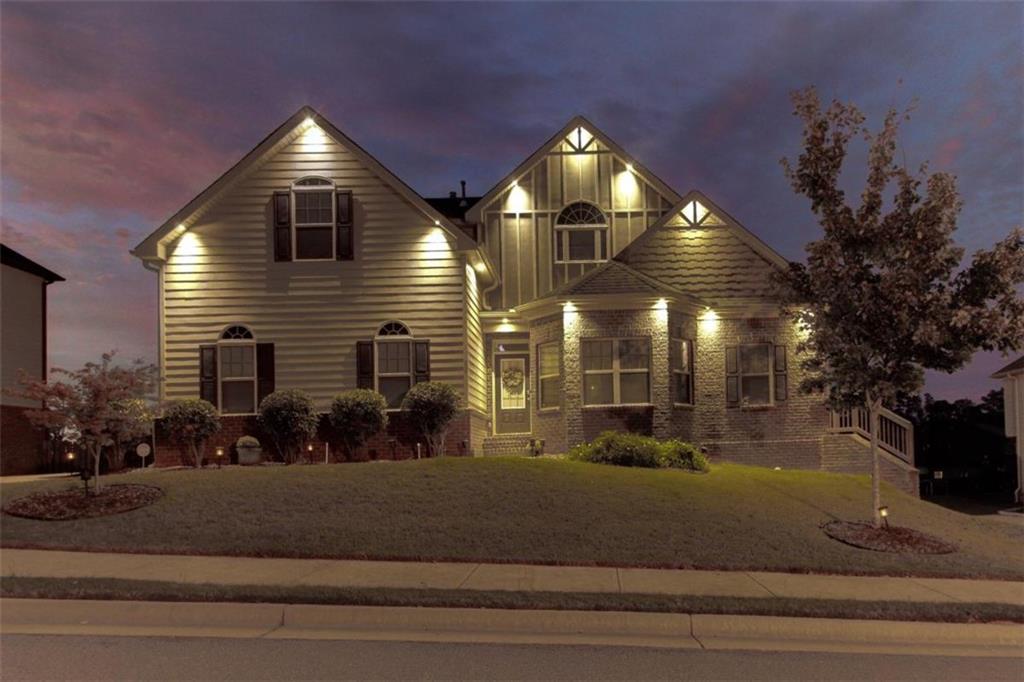
M 193 585 L 113 579 L 4 578 L 0 596 L 27 599 L 128 599 L 137 601 L 345 604 L 447 608 L 530 608 L 658 613 L 729 613 L 872 621 L 1024 623 L 1011 604 L 698 597 L 587 592 L 488 592 L 381 588 Z

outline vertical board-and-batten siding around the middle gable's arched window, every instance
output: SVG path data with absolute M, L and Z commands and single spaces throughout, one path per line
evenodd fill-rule
M 618 253 L 671 208 L 671 201 L 600 140 L 583 154 L 556 144 L 480 213 L 483 242 L 501 270 L 487 294 L 492 308 L 511 308 L 547 295 L 595 264 L 554 262 L 554 221 L 568 204 L 597 205 L 608 219 L 608 255 Z M 632 178 L 632 180 L 630 180 Z

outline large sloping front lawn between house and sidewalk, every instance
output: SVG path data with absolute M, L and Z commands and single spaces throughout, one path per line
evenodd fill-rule
M 4 516 L 5 547 L 513 561 L 940 577 L 1024 577 L 1024 527 L 885 491 L 890 520 L 950 555 L 855 549 L 821 532 L 869 515 L 865 477 L 720 464 L 709 474 L 487 458 L 147 471 L 152 507 L 76 521 Z M 73 485 L 0 486 L 4 501 Z

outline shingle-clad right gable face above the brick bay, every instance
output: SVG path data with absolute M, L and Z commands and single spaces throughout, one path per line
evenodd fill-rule
M 681 217 L 694 201 L 712 214 L 702 224 L 687 224 Z M 770 293 L 770 272 L 788 267 L 785 258 L 696 190 L 687 193 L 614 260 L 694 295 L 732 300 L 763 298 Z

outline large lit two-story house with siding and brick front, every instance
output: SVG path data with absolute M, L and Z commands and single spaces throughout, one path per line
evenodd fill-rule
M 629 429 L 866 470 L 866 420 L 795 390 L 800 331 L 771 294 L 786 261 L 582 117 L 484 196 L 424 200 L 304 108 L 133 253 L 158 275 L 165 397 L 217 404 L 225 445 L 275 387 L 397 408 L 431 379 L 464 398 L 452 454 Z M 909 427 L 890 424 L 887 474 L 915 491 Z M 417 438 L 395 413 L 369 449 Z

